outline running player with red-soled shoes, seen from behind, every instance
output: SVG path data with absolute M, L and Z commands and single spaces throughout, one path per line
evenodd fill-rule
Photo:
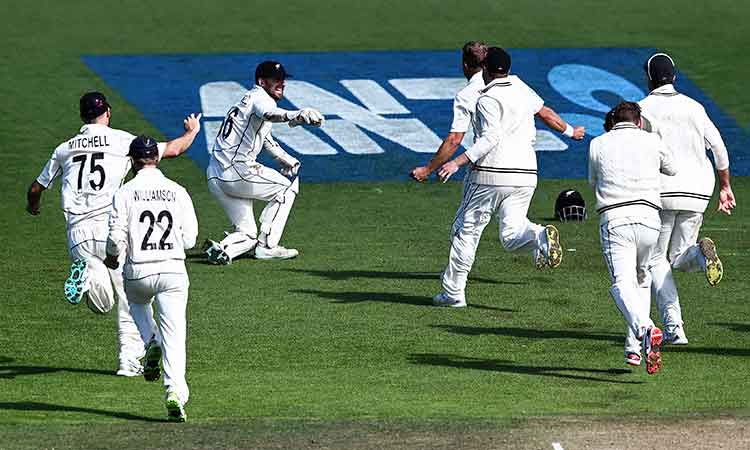
M 628 329 L 642 340 L 647 372 L 654 374 L 661 367 L 662 332 L 650 317 L 650 263 L 661 228 L 659 174 L 674 175 L 675 162 L 659 136 L 638 127 L 637 103 L 621 102 L 613 121 L 608 133 L 591 141 L 589 184 L 596 193 L 610 294 Z M 626 354 L 626 362 L 636 357 L 640 364 L 640 354 Z

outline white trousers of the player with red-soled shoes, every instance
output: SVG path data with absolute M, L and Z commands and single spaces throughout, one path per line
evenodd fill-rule
M 659 239 L 659 222 L 643 217 L 623 217 L 599 226 L 602 253 L 612 279 L 610 294 L 622 313 L 628 332 L 640 338 L 653 326 L 651 274 Z

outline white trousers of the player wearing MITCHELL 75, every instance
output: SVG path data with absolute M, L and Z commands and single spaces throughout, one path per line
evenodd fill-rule
M 86 304 L 89 309 L 98 314 L 105 314 L 112 310 L 117 302 L 120 365 L 137 364 L 143 357 L 144 344 L 125 298 L 122 261 L 120 268 L 116 270 L 108 269 L 104 265 L 108 234 L 109 224 L 106 218 L 79 222 L 68 229 L 68 253 L 71 260 L 86 260 L 89 283 Z

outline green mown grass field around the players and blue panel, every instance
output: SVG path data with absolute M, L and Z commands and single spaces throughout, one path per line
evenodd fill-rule
M 748 128 L 750 6 L 514 3 L 127 0 L 6 8 L 0 449 L 506 448 L 500 438 L 471 447 L 468 432 L 497 433 L 507 448 L 550 448 L 551 441 L 537 447 L 533 433 L 523 435 L 528 440 L 504 433 L 539 419 L 546 436 L 545 421 L 570 417 L 729 417 L 746 431 L 748 178 L 733 180 L 740 205 L 733 216 L 706 214 L 704 234 L 720 246 L 724 281 L 711 289 L 700 275 L 676 275 L 691 342 L 667 349 L 654 377 L 622 362 L 625 325 L 608 294 L 596 219 L 560 227 L 575 251 L 545 272 L 504 252 L 491 224 L 470 277 L 471 307 L 429 306 L 459 183 L 303 183 L 284 238 L 300 258 L 215 267 L 196 251 L 184 425 L 161 423 L 160 383 L 112 375 L 114 314 L 64 301 L 58 184 L 33 218 L 24 212 L 26 188 L 78 129 L 86 90 L 100 89 L 116 105 L 114 127 L 158 134 L 83 65 L 83 54 L 452 49 L 476 38 L 510 48 L 656 47 Z M 163 170 L 193 196 L 199 241 L 218 236 L 228 224 L 202 171 L 186 158 Z M 549 220 L 555 196 L 570 186 L 593 204 L 584 180 L 544 180 L 532 220 Z M 739 445 L 725 448 L 748 448 L 748 440 L 740 434 Z

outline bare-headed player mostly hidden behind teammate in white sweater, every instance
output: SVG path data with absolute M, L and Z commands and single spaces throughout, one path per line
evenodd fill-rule
M 415 180 L 420 182 L 427 180 L 430 174 L 445 164 L 456 153 L 470 127 L 476 136 L 474 114 L 477 99 L 484 89 L 482 65 L 486 56 L 487 44 L 484 42 L 469 41 L 461 49 L 461 63 L 468 84 L 458 91 L 453 99 L 453 123 L 448 136 L 440 144 L 435 156 L 426 166 L 415 167 L 411 171 L 410 175 Z

